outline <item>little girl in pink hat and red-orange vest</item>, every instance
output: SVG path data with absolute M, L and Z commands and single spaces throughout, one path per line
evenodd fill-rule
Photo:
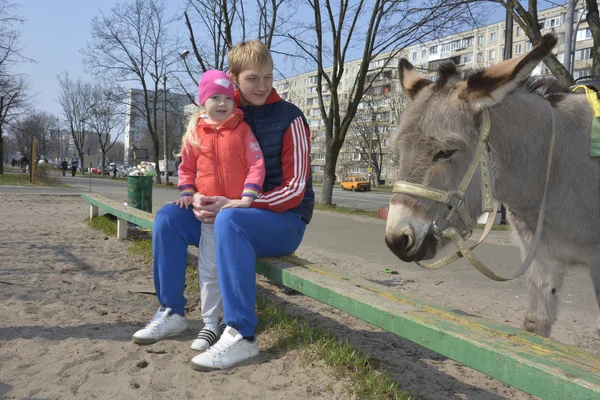
M 182 138 L 180 197 L 175 204 L 187 209 L 198 192 L 232 199 L 226 208 L 248 208 L 262 190 L 265 166 L 258 142 L 244 122 L 244 113 L 234 105 L 229 76 L 206 71 L 198 84 L 198 103 L 205 115 L 194 114 Z M 201 224 L 198 277 L 204 327 L 191 346 L 197 351 L 208 349 L 221 336 L 222 302 L 215 251 L 214 224 Z M 138 331 L 133 339 L 138 343 L 155 340 L 147 329 Z

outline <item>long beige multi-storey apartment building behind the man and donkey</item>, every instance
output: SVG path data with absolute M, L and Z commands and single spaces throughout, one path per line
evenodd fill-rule
M 591 54 L 593 40 L 587 23 L 583 20 L 583 2 L 579 3 L 574 16 L 573 76 L 579 78 L 591 74 Z M 566 4 L 539 11 L 538 17 L 542 34 L 554 32 L 558 36 L 555 49 L 559 61 L 564 61 Z M 513 24 L 512 56 L 516 57 L 531 50 L 523 29 Z M 355 122 L 348 132 L 346 142 L 340 151 L 336 166 L 338 180 L 349 175 L 366 175 L 369 168 L 375 174 L 380 172 L 381 183 L 390 183 L 395 178 L 397 160 L 389 151 L 390 134 L 401 118 L 407 99 L 402 95 L 398 82 L 397 65 L 400 57 L 408 59 L 431 80 L 436 79 L 439 65 L 447 60 L 459 68 L 472 69 L 487 67 L 504 59 L 505 22 L 497 22 L 471 29 L 455 35 L 428 41 L 408 47 L 396 59 L 390 60 L 390 53 L 382 54 L 369 65 L 373 72 L 368 81 L 373 82 L 358 107 Z M 386 64 L 387 63 L 387 64 Z M 360 60 L 344 65 L 344 76 L 339 88 L 343 101 L 352 90 L 356 80 Z M 385 67 L 384 67 L 385 66 Z M 331 72 L 331 68 L 326 69 Z M 534 74 L 549 74 L 540 64 Z M 323 179 L 325 166 L 325 126 L 319 109 L 317 95 L 317 71 L 292 76 L 274 83 L 277 92 L 285 100 L 296 104 L 305 114 L 311 130 L 311 165 L 313 179 Z M 327 86 L 323 86 L 324 102 L 329 104 Z M 326 107 L 327 108 L 327 107 Z M 373 158 L 369 160 L 369 146 Z

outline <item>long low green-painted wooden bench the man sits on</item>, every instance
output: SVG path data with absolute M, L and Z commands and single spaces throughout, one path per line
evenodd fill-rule
M 83 194 L 90 217 L 104 210 L 152 229 L 154 216 Z M 123 231 L 121 230 L 123 229 Z M 293 256 L 257 260 L 257 273 L 542 399 L 600 399 L 600 359 L 576 347 L 460 310 L 427 303 L 339 268 Z M 465 288 L 467 291 L 468 288 Z

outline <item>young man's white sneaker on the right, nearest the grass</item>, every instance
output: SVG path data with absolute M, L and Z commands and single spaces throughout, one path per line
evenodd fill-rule
M 229 368 L 258 355 L 258 341 L 245 340 L 234 328 L 228 326 L 214 346 L 192 358 L 197 371 Z

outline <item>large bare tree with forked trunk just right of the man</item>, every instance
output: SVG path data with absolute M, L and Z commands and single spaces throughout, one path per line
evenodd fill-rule
M 320 0 L 308 3 L 314 20 L 309 25 L 301 24 L 288 38 L 317 67 L 316 91 L 326 127 L 320 202 L 330 205 L 338 156 L 363 94 L 388 65 L 396 63 L 396 56 L 403 48 L 458 28 L 470 14 L 464 12 L 468 2 L 462 0 L 431 0 L 426 4 L 412 0 L 341 0 L 337 7 L 330 0 L 325 0 L 325 4 Z M 344 66 L 349 49 L 357 46 L 362 47 L 362 61 L 356 75 L 350 76 Z M 388 57 L 382 65 L 372 65 L 384 53 Z M 349 78 L 353 86 L 349 94 L 343 93 L 347 106 L 342 107 L 340 84 Z M 324 95 L 331 96 L 327 105 Z

